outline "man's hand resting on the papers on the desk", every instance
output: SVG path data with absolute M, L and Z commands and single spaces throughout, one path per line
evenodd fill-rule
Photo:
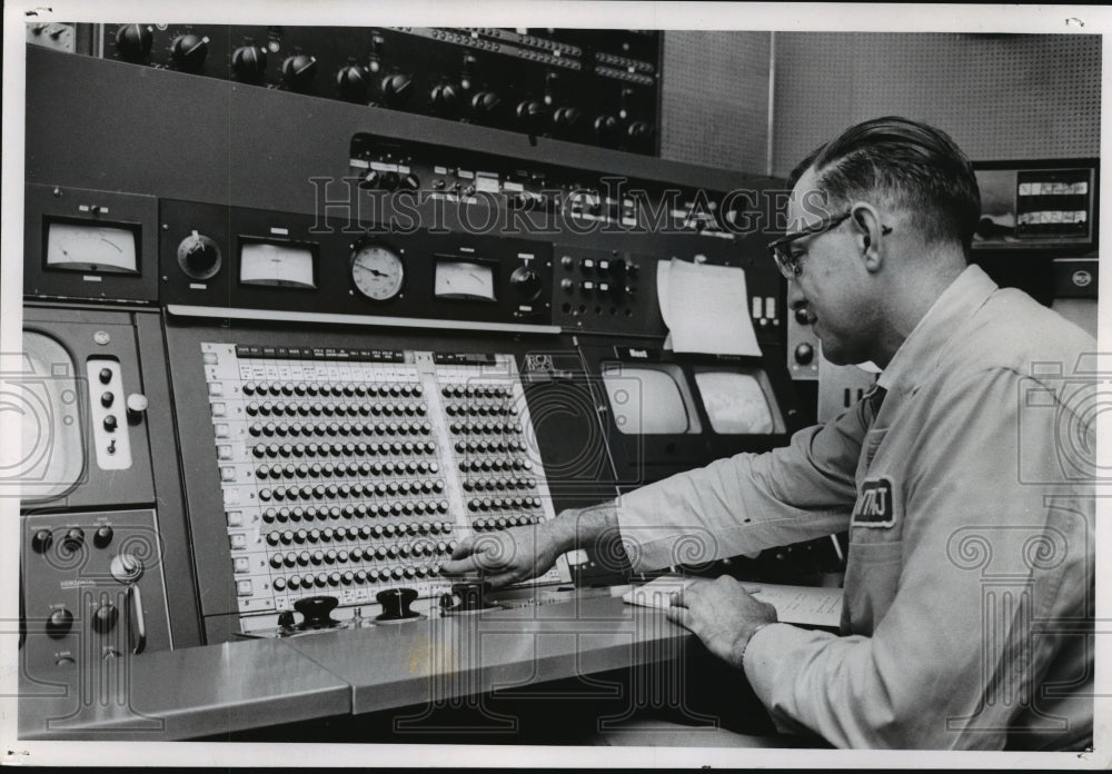
M 753 598 L 728 575 L 695 580 L 676 592 L 667 613 L 668 618 L 694 632 L 711 653 L 738 669 L 749 637 L 758 627 L 777 621 L 775 607 Z

